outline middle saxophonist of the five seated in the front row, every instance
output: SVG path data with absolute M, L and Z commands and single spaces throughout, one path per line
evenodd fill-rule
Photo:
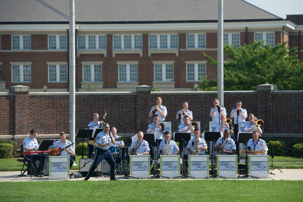
M 187 144 L 186 151 L 190 153 L 191 155 L 195 155 L 195 147 L 196 147 L 196 142 L 198 139 L 198 144 L 197 144 L 197 149 L 198 149 L 198 154 L 205 154 L 207 151 L 207 145 L 204 139 L 200 138 L 200 129 L 195 128 L 194 130 L 194 135 L 195 137 L 190 139 L 190 141 Z

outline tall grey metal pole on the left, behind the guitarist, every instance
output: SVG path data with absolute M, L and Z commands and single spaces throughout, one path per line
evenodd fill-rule
M 75 64 L 75 0 L 69 0 L 69 141 L 71 142 L 75 142 Z

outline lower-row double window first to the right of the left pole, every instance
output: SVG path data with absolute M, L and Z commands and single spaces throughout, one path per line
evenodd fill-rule
M 101 82 L 102 65 L 101 64 L 83 64 L 83 82 Z

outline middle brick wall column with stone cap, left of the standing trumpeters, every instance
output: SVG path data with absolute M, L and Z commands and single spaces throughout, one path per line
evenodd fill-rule
M 147 128 L 151 118 L 148 117 L 150 112 L 151 104 L 151 87 L 142 85 L 136 87 L 137 91 L 137 129 L 136 132 L 139 132 L 140 128 Z M 146 132 L 146 131 L 142 131 Z

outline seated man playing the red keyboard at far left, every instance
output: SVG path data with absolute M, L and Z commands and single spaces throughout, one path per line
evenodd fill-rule
M 32 151 L 37 151 L 38 150 L 39 146 L 38 146 L 36 136 L 37 136 L 37 131 L 35 129 L 32 129 L 29 132 L 29 137 L 27 137 L 23 140 L 23 152 L 32 152 Z M 26 159 L 30 160 L 28 166 L 30 166 L 30 163 L 32 163 L 31 159 L 33 160 L 32 173 L 34 173 L 35 175 L 39 175 L 40 164 L 41 163 L 39 164 L 39 168 L 37 168 L 37 165 L 36 165 L 35 161 L 40 161 L 41 160 L 41 155 L 38 154 L 38 155 L 24 155 L 24 156 L 25 156 Z M 42 155 L 42 169 L 43 169 L 43 166 L 44 166 L 44 160 L 45 160 L 45 157 Z M 30 169 L 30 167 L 29 167 L 29 169 Z

